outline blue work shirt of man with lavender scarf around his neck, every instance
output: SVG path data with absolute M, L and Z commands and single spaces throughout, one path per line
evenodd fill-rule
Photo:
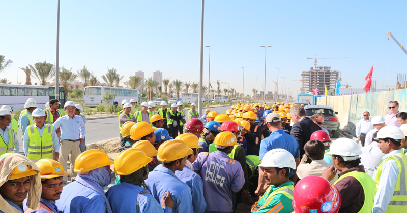
M 106 202 L 102 195 L 77 181 L 64 187 L 56 205 L 64 213 L 106 212 Z

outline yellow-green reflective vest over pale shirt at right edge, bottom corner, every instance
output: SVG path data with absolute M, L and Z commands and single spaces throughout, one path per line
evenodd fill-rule
M 407 170 L 406 170 L 406 165 L 407 165 L 407 155 L 403 153 L 396 153 L 394 155 L 389 156 L 386 160 L 384 160 L 379 167 L 377 167 L 377 173 L 374 178 L 374 182 L 376 183 L 376 190 L 377 187 L 379 186 L 380 182 L 380 176 L 382 175 L 382 170 L 383 170 L 383 165 L 385 164 L 386 161 L 388 160 L 394 160 L 396 162 L 396 165 L 398 167 L 398 176 L 397 176 L 397 182 L 394 188 L 393 192 L 393 197 L 391 198 L 391 201 L 389 205 L 387 206 L 386 212 L 405 212 L 405 209 L 407 207 L 407 189 L 405 186 L 405 183 L 407 182 Z M 387 181 L 387 180 L 383 180 Z

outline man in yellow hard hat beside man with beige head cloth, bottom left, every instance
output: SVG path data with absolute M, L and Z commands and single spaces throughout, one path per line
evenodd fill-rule
M 64 171 L 61 163 L 52 159 L 41 159 L 36 165 L 40 169 L 42 192 L 37 209 L 27 207 L 27 199 L 23 202 L 24 213 L 59 213 L 55 201 L 59 200 L 62 192 L 62 176 L 69 173 Z

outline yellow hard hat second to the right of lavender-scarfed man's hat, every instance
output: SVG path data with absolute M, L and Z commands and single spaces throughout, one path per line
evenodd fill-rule
M 192 153 L 193 151 L 184 141 L 180 139 L 172 139 L 165 141 L 158 148 L 157 160 L 167 163 L 184 158 Z

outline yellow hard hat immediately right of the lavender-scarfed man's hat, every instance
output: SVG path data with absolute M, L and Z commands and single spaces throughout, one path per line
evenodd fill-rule
M 147 157 L 146 153 L 139 149 L 127 149 L 119 153 L 114 160 L 114 173 L 119 175 L 128 175 L 138 169 L 146 166 L 152 158 Z

